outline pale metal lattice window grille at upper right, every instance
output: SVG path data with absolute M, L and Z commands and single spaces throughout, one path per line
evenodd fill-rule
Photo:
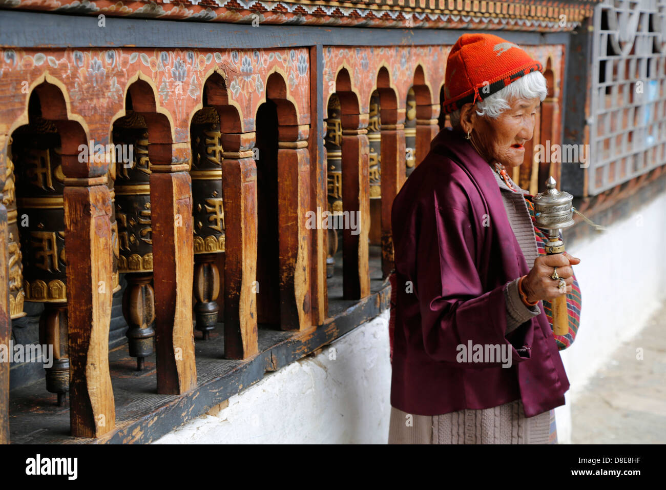
M 576 163 L 596 195 L 666 163 L 666 0 L 605 0 L 592 42 L 590 151 Z

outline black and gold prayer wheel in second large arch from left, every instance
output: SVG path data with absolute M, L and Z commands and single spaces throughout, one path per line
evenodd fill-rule
M 154 350 L 155 293 L 153 291 L 153 229 L 151 228 L 151 169 L 148 129 L 143 117 L 131 111 L 113 125 L 116 145 L 115 211 L 118 226 L 118 270 L 125 273 L 123 316 L 129 355 L 144 359 Z M 118 151 L 121 145 L 121 151 Z M 122 153 L 122 155 L 121 155 Z

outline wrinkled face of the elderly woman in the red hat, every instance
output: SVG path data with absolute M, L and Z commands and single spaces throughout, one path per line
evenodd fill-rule
M 539 97 L 514 99 L 496 119 L 474 117 L 474 144 L 486 161 L 499 161 L 507 168 L 523 163 L 524 143 L 532 139 L 540 103 Z

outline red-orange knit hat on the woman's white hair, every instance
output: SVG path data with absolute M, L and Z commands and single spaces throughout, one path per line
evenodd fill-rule
M 501 37 L 463 34 L 446 62 L 442 113 L 486 99 L 527 73 L 541 70 L 541 63 Z

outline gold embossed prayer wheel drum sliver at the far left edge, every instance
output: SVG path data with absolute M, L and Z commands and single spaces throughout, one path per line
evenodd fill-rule
M 16 207 L 16 186 L 14 179 L 14 164 L 11 159 L 11 139 L 7 149 L 7 173 L 5 187 L 3 187 L 3 204 L 7 208 L 7 255 L 9 256 L 9 315 L 11 319 L 25 317 L 23 301 L 23 254 L 21 253 L 19 225 L 17 223 L 18 210 Z

